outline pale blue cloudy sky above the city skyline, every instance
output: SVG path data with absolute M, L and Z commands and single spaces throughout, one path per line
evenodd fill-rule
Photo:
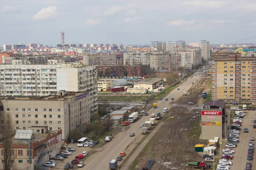
M 255 16 L 255 0 L 0 0 L 0 44 L 230 43 L 256 35 Z

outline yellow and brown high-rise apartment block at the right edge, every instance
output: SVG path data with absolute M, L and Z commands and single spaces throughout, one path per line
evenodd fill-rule
M 230 51 L 212 54 L 212 100 L 256 101 L 256 57 Z

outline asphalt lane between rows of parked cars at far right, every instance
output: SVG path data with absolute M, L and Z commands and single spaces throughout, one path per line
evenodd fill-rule
M 247 114 L 243 119 L 243 123 L 241 126 L 242 130 L 240 131 L 240 134 L 239 134 L 240 143 L 238 143 L 237 147 L 234 148 L 236 153 L 233 154 L 234 159 L 231 160 L 233 162 L 233 165 L 231 166 L 233 170 L 245 169 L 245 164 L 248 161 L 247 151 L 249 148 L 248 143 L 250 141 L 250 136 L 254 136 L 254 138 L 256 138 L 256 133 L 255 133 L 256 129 L 253 129 L 253 120 L 256 119 L 255 111 L 245 111 L 245 112 L 247 112 Z M 247 127 L 249 129 L 249 133 L 244 133 L 244 127 Z M 255 142 L 254 142 L 254 147 L 255 147 Z M 252 170 L 256 170 L 256 163 L 254 163 L 256 159 L 255 153 L 253 155 L 254 155 L 253 161 L 249 161 L 249 162 L 252 163 Z

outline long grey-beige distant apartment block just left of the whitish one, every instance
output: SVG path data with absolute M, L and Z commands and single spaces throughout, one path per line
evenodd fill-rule
M 83 54 L 84 65 L 116 65 L 116 54 Z

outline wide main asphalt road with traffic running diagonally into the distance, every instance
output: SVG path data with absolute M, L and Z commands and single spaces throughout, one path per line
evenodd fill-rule
M 135 147 L 137 142 L 139 142 L 140 139 L 143 138 L 144 135 L 141 134 L 140 124 L 144 124 L 145 121 L 148 121 L 152 113 L 163 113 L 163 108 L 171 108 L 173 103 L 173 100 L 171 100 L 171 98 L 173 97 L 176 100 L 180 96 L 184 95 L 184 93 L 192 86 L 192 82 L 195 82 L 196 79 L 198 79 L 201 76 L 202 75 L 194 74 L 193 78 L 188 78 L 186 81 L 184 81 L 177 87 L 180 88 L 179 91 L 177 90 L 177 88 L 175 88 L 172 92 L 168 94 L 168 96 L 163 98 L 163 100 L 157 102 L 157 108 L 152 108 L 149 111 L 147 111 L 149 116 L 143 115 L 136 122 L 131 123 L 129 127 L 124 127 L 123 131 L 116 135 L 115 138 L 111 140 L 111 142 L 107 142 L 105 144 L 104 150 L 100 150 L 94 153 L 84 161 L 84 169 L 109 170 L 109 161 L 111 159 L 116 159 L 116 157 L 119 156 L 120 152 L 130 153 L 132 150 L 131 145 Z M 166 98 L 168 98 L 169 101 L 165 101 Z M 129 134 L 132 132 L 135 133 L 134 137 L 129 136 Z

